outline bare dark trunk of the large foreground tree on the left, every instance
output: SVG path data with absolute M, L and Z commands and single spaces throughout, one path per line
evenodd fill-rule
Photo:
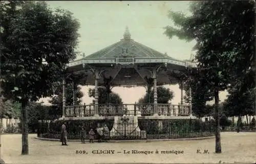
M 28 142 L 28 112 L 26 99 L 22 100 L 22 155 L 29 154 L 29 142 Z

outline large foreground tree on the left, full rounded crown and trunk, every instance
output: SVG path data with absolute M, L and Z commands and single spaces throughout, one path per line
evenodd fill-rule
M 28 154 L 26 106 L 52 95 L 52 83 L 76 57 L 79 23 L 45 2 L 1 1 L 1 12 L 2 95 L 22 104 L 22 154 Z

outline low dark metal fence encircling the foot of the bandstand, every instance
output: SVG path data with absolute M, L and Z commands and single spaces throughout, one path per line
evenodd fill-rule
M 96 128 L 104 124 L 109 129 L 105 133 L 106 139 L 162 139 L 162 138 L 194 138 L 214 135 L 214 122 L 202 122 L 201 120 L 146 120 L 140 119 L 138 123 L 122 121 L 114 123 L 114 120 L 73 120 L 67 125 L 68 139 L 79 139 L 83 127 L 88 132 L 92 128 L 97 138 Z M 42 138 L 60 138 L 61 122 L 40 125 L 38 136 Z

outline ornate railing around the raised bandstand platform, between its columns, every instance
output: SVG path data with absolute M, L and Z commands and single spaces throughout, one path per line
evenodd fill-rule
M 100 116 L 152 116 L 154 104 L 99 104 Z M 189 105 L 158 104 L 157 113 L 160 116 L 188 116 Z M 94 104 L 66 106 L 66 117 L 93 116 Z

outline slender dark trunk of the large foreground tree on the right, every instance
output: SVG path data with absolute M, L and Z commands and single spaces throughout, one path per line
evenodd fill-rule
M 220 133 L 220 118 L 219 118 L 219 90 L 214 91 L 215 99 L 215 153 L 221 153 L 221 133 Z

